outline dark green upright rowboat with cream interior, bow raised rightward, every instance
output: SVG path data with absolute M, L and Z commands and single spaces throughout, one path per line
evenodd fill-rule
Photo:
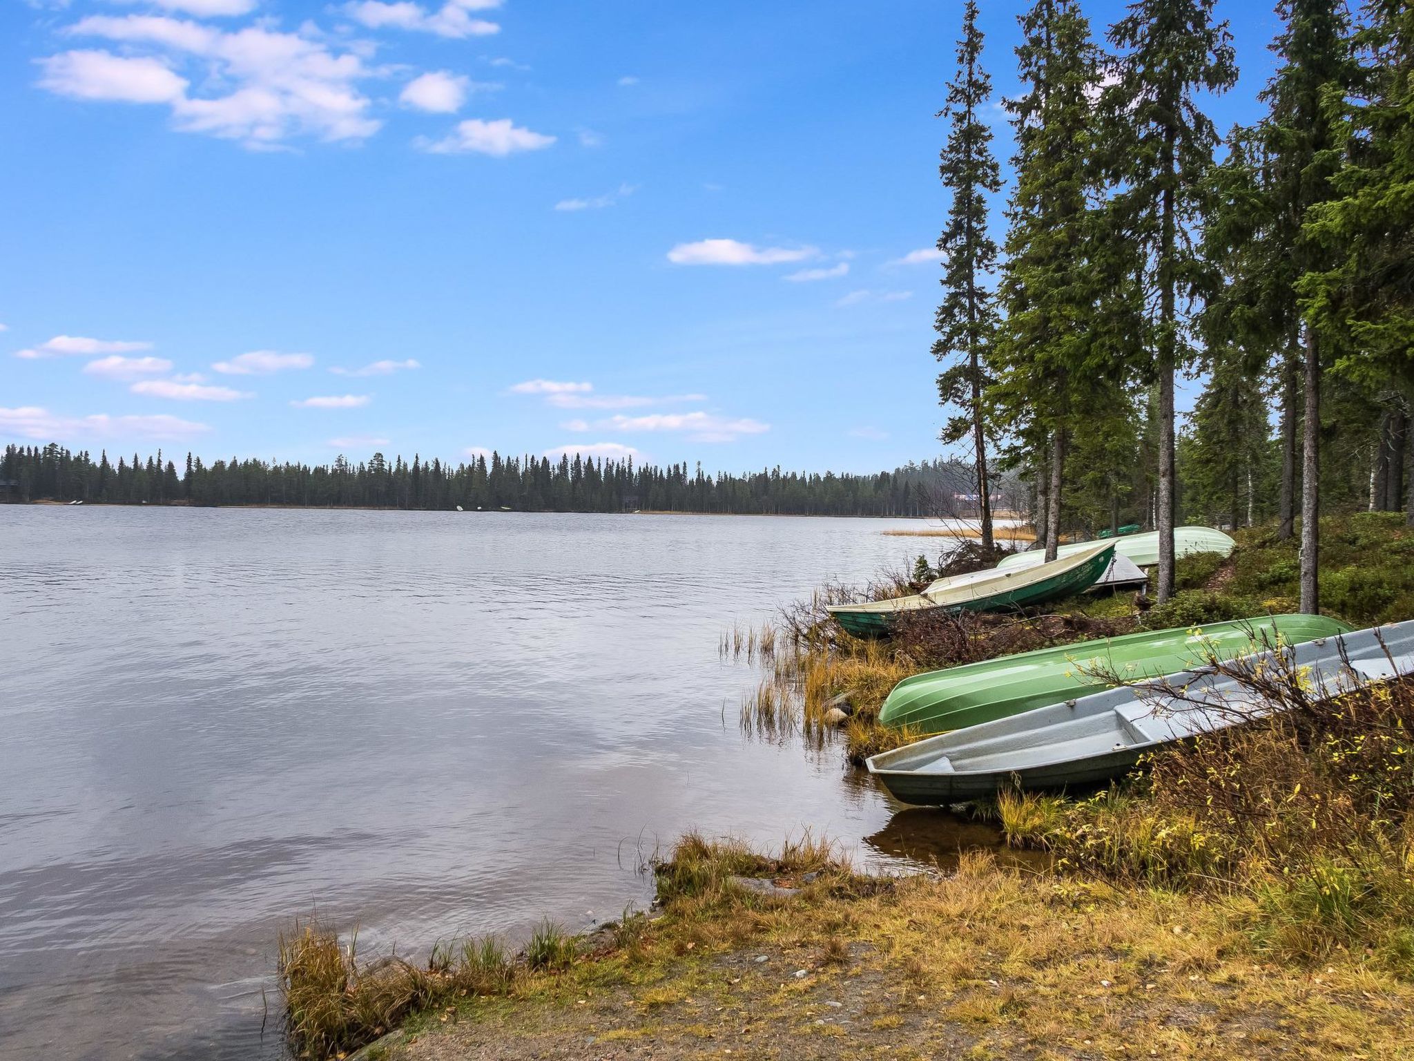
M 1086 542 L 1069 556 L 1018 570 L 990 569 L 939 579 L 912 597 L 836 604 L 830 614 L 858 638 L 888 637 L 901 614 L 942 608 L 943 611 L 1007 611 L 1029 604 L 1085 593 L 1104 574 L 1114 542 Z

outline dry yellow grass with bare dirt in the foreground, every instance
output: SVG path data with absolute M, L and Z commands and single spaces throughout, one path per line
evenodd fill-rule
M 693 843 L 693 859 L 720 850 L 740 871 L 740 845 Z M 636 958 L 601 949 L 525 978 L 510 1000 L 468 999 L 460 1023 L 414 1026 L 393 1057 L 621 1057 L 619 1041 L 658 1058 L 1414 1055 L 1414 986 L 1363 953 L 1273 963 L 1241 895 L 1027 874 L 986 854 L 950 877 L 834 870 L 785 900 L 718 877 L 676 894 Z

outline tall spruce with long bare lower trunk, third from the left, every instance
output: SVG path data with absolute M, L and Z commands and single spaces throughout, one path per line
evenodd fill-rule
M 1198 93 L 1222 92 L 1237 79 L 1226 23 L 1215 0 L 1137 0 L 1110 28 L 1121 50 L 1107 89 L 1114 116 L 1116 197 L 1126 233 L 1145 255 L 1151 297 L 1147 340 L 1158 383 L 1158 600 L 1174 593 L 1174 382 L 1193 356 L 1191 327 L 1203 263 L 1191 233 L 1203 219 L 1205 181 L 1217 133 Z

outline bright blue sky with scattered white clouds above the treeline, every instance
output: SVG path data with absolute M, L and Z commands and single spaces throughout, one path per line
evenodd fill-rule
M 1019 10 L 984 4 L 998 93 Z M 1121 4 L 1085 11 L 1099 34 Z M 1210 108 L 1226 130 L 1258 113 L 1278 23 L 1219 11 L 1241 66 Z M 939 270 L 915 252 L 946 212 L 933 113 L 960 16 L 7 3 L 0 441 L 933 456 Z

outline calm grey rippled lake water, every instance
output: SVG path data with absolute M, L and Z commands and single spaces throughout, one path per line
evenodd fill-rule
M 293 917 L 578 929 L 687 828 L 946 853 L 837 748 L 744 736 L 717 654 L 936 553 L 889 526 L 0 506 L 0 1055 L 279 1058 Z

